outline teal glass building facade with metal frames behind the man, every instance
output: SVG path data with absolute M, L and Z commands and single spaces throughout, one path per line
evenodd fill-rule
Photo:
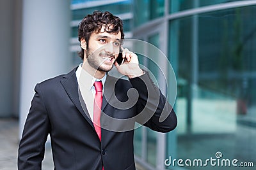
M 79 60 L 78 20 L 93 10 L 108 10 L 123 17 L 126 38 L 142 39 L 165 53 L 177 76 L 177 129 L 168 134 L 147 127 L 136 129 L 136 161 L 145 169 L 253 169 L 250 165 L 252 162 L 256 166 L 256 1 L 95 2 L 86 6 L 88 1 L 72 1 L 70 50 L 74 64 Z M 142 64 L 161 81 L 153 62 L 142 60 Z M 172 87 L 168 88 L 164 91 Z M 216 153 L 222 157 L 216 157 Z M 170 158 L 168 163 L 172 164 L 164 164 Z M 211 158 L 237 159 L 239 166 L 204 166 L 205 160 Z M 174 159 L 190 159 L 192 164 L 183 162 L 184 166 L 179 166 L 177 161 L 173 164 Z M 198 166 L 202 167 L 193 166 L 194 159 L 201 159 L 202 165 L 199 162 Z M 240 163 L 248 166 L 241 167 Z

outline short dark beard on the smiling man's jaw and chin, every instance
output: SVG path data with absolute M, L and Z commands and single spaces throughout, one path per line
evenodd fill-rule
M 104 54 L 106 55 L 106 54 Z M 112 69 L 112 66 L 104 66 L 104 63 L 100 61 L 100 53 L 96 56 L 90 49 L 86 50 L 86 57 L 88 64 L 96 70 L 108 72 Z M 116 59 L 115 59 L 116 60 Z M 114 61 L 115 63 L 115 61 Z

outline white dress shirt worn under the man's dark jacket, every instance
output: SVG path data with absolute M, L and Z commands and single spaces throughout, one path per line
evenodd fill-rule
M 102 81 L 102 94 L 104 93 L 104 84 L 106 81 L 107 74 L 101 79 L 97 79 L 93 77 L 91 74 L 86 72 L 82 64 L 79 64 L 77 70 L 76 70 L 76 78 L 79 86 L 79 90 L 81 92 L 81 95 L 83 97 L 83 101 L 86 104 L 86 108 L 88 110 L 88 113 L 90 115 L 91 120 L 93 120 L 93 101 L 95 96 L 95 87 L 93 83 L 95 81 Z

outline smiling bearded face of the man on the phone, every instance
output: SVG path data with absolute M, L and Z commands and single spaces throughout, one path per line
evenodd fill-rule
M 93 69 L 104 73 L 110 71 L 120 50 L 120 39 L 120 32 L 109 34 L 103 26 L 99 33 L 93 32 L 84 56 L 84 64 L 87 65 L 84 69 L 89 73 L 92 73 Z M 83 43 L 81 42 L 81 46 Z

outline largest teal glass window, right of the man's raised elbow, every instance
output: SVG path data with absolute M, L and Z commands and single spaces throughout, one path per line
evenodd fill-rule
M 178 60 L 178 159 L 221 152 L 223 159 L 255 163 L 254 16 L 256 6 L 247 6 L 170 22 L 169 53 Z

